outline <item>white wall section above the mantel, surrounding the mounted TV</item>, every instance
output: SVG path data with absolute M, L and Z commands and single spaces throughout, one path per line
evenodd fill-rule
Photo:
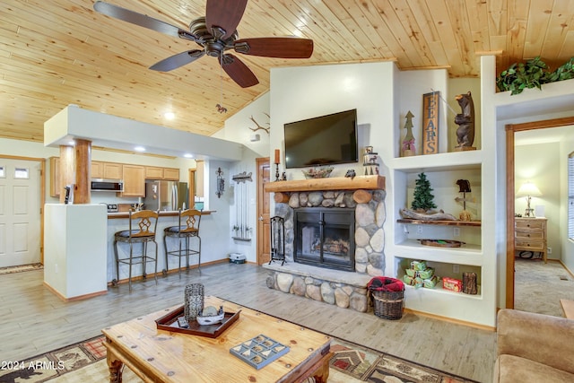
M 271 69 L 271 137 L 268 155 L 281 149 L 283 125 L 343 110 L 357 109 L 359 146 L 372 145 L 383 163 L 393 157 L 396 120 L 394 63 L 314 65 Z M 421 100 L 422 102 L 422 100 Z M 335 165 L 331 177 L 346 170 L 362 174 L 362 164 Z M 283 164 L 280 172 L 283 172 Z M 287 170 L 287 179 L 304 178 L 300 170 Z M 385 174 L 385 166 L 381 168 Z M 273 211 L 273 207 L 272 207 Z

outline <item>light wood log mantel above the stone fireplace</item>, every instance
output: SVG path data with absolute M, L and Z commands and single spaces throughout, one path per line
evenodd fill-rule
M 333 177 L 333 178 L 311 178 L 296 179 L 292 181 L 275 181 L 265 184 L 265 191 L 271 193 L 278 192 L 300 192 L 300 191 L 321 191 L 321 190 L 385 190 L 385 178 L 382 176 L 356 176 L 354 178 Z

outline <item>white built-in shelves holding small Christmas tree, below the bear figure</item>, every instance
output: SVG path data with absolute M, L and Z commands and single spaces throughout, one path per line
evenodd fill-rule
M 440 278 L 463 279 L 463 273 L 475 273 L 478 293 L 451 292 L 443 288 L 442 281 L 432 288 L 406 286 L 404 305 L 407 309 L 427 312 L 441 317 L 465 318 L 464 310 L 478 308 L 483 300 L 483 235 L 482 235 L 482 177 L 481 151 L 445 152 L 393 159 L 393 198 L 396 207 L 394 238 L 394 273 L 403 279 L 405 268 L 413 260 L 424 260 Z M 434 202 L 438 210 L 458 217 L 463 205 L 457 201 L 458 179 L 470 181 L 471 193 L 466 193 L 466 211 L 472 221 L 413 220 L 400 216 L 401 208 L 412 204 L 415 180 L 424 172 L 431 182 Z M 441 248 L 422 245 L 420 239 L 445 239 L 463 242 L 459 248 Z M 470 312 L 470 311 L 468 311 Z

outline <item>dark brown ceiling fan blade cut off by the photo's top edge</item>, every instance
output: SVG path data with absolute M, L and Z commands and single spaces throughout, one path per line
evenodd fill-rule
M 207 0 L 205 5 L 205 25 L 207 30 L 219 27 L 225 30 L 222 39 L 229 38 L 241 21 L 248 0 Z

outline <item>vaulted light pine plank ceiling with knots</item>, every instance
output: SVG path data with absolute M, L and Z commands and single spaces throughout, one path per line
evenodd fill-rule
M 402 70 L 476 77 L 484 53 L 497 55 L 498 72 L 536 56 L 553 67 L 574 57 L 574 0 L 250 0 L 239 38 L 297 35 L 315 49 L 309 59 L 240 56 L 260 82 L 241 89 L 213 57 L 149 70 L 196 44 L 96 13 L 93 3 L 0 3 L 1 137 L 42 142 L 44 122 L 69 104 L 212 135 L 268 91 L 274 66 L 394 60 Z M 109 3 L 182 29 L 205 11 L 205 0 Z

